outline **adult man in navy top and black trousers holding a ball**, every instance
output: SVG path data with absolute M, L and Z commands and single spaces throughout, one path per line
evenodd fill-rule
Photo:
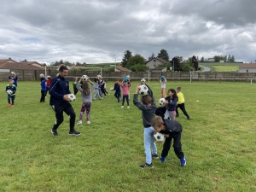
M 60 74 L 52 79 L 51 84 L 49 86 L 49 105 L 55 111 L 55 125 L 53 126 L 51 133 L 54 136 L 58 136 L 57 128 L 63 122 L 63 112 L 67 113 L 70 117 L 69 119 L 69 126 L 70 131 L 69 135 L 79 136 L 80 132 L 74 130 L 74 124 L 76 119 L 76 113 L 74 112 L 72 105 L 67 98 L 67 94 L 71 93 L 68 86 L 68 69 L 67 67 L 60 67 L 59 69 Z

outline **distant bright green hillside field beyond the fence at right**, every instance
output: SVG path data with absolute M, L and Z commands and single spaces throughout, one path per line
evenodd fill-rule
M 200 65 L 210 67 L 212 72 L 236 72 L 243 63 L 233 62 L 201 62 Z

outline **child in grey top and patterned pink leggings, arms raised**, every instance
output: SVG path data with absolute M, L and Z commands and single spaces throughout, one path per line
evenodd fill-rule
M 89 86 L 87 81 L 90 82 L 91 86 Z M 79 118 L 79 122 L 77 123 L 77 125 L 82 124 L 85 110 L 86 110 L 87 124 L 90 124 L 90 105 L 92 102 L 91 91 L 94 89 L 94 84 L 90 81 L 90 79 L 88 79 L 87 81 L 85 81 L 83 83 L 83 89 L 80 87 L 80 83 L 83 82 L 82 78 L 79 80 L 79 82 L 77 84 L 77 89 L 81 92 L 82 101 L 83 101 L 82 108 L 80 111 L 80 118 Z

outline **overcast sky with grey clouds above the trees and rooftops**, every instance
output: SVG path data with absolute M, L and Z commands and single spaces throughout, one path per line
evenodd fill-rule
M 0 0 L 0 59 L 38 62 L 145 59 L 256 60 L 255 0 Z M 115 56 L 116 55 L 116 56 Z

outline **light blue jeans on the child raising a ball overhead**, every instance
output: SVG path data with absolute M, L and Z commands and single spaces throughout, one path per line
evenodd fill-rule
M 154 143 L 154 128 L 152 126 L 144 128 L 144 148 L 146 154 L 146 163 L 152 163 L 152 154 L 157 154 L 157 148 Z M 152 153 L 151 153 L 152 148 Z

